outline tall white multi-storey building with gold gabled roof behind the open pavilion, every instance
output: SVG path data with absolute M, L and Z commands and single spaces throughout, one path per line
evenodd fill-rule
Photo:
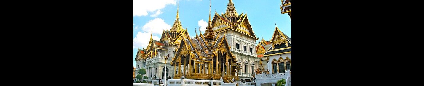
M 233 1 L 229 0 L 225 14 L 215 12 L 212 30 L 215 34 L 221 34 L 221 37 L 225 36 L 229 50 L 236 56 L 237 63 L 240 63 L 241 69 L 237 69 L 239 78 L 252 80 L 258 67 L 259 58 L 255 48 L 258 38 L 250 25 L 247 13 L 238 14 Z

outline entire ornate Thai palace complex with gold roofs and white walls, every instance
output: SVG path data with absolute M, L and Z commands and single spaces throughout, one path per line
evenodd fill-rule
M 163 31 L 159 41 L 150 38 L 148 46 L 138 50 L 135 74 L 141 68 L 146 69 L 148 82 L 159 84 L 162 83 L 159 79 L 167 77 L 169 86 L 208 83 L 254 86 L 251 82 L 254 76 L 263 78 L 266 72 L 277 74 L 291 69 L 290 37 L 276 28 L 270 41 L 262 39 L 256 44 L 259 38 L 252 30 L 247 13 L 238 14 L 232 0 L 226 6 L 225 13 L 215 12 L 213 17 L 209 6 L 206 31 L 203 34 L 195 31 L 196 36 L 189 36 L 187 29 L 182 28 L 177 8 L 170 31 Z M 170 59 L 165 61 L 165 57 Z M 257 70 L 265 74 L 255 75 Z

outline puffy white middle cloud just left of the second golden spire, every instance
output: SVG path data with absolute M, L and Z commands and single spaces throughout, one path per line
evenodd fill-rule
M 171 29 L 171 25 L 166 24 L 161 18 L 155 18 L 147 22 L 146 25 L 143 26 L 142 31 L 151 32 L 152 28 L 153 34 L 162 35 L 163 30 L 166 31 Z

